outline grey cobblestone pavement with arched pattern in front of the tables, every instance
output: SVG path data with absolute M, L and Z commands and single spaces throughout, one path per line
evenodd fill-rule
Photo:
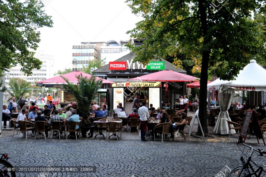
M 0 137 L 1 153 L 10 152 L 14 167 L 61 167 L 57 172 L 20 171 L 17 176 L 215 176 L 239 165 L 236 143 L 140 140 L 59 140 Z M 258 146 L 252 144 L 252 146 Z M 266 149 L 265 147 L 261 147 Z M 254 157 L 265 164 L 265 157 Z M 62 172 L 88 166 L 93 171 Z M 86 169 L 85 169 L 86 170 Z M 87 169 L 89 170 L 89 169 Z

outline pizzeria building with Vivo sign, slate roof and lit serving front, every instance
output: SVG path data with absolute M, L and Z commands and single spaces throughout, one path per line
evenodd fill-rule
M 144 66 L 141 62 L 133 62 L 135 57 L 134 53 L 130 53 L 95 70 L 95 75 L 98 77 L 115 82 L 109 84 L 107 88 L 109 89 L 110 109 L 115 109 L 118 103 L 122 103 L 126 112 L 131 112 L 132 102 L 137 94 L 140 94 L 140 104 L 142 101 L 147 102 L 146 107 L 150 104 L 153 104 L 155 109 L 165 106 L 165 96 L 169 97 L 169 107 L 177 107 L 175 103 L 179 102 L 179 96 L 186 93 L 186 83 L 168 82 L 168 95 L 165 91 L 165 82 L 141 81 L 137 77 L 161 70 L 173 70 L 183 74 L 186 74 L 186 71 L 175 68 L 171 62 L 164 59 L 151 61 Z M 136 79 L 128 81 L 131 78 Z

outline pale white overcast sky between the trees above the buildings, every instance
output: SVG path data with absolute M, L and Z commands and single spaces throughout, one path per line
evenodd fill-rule
M 55 72 L 72 68 L 72 45 L 129 39 L 126 31 L 133 29 L 141 17 L 134 16 L 124 1 L 43 0 L 54 24 L 53 28 L 39 29 L 39 49 L 55 56 Z

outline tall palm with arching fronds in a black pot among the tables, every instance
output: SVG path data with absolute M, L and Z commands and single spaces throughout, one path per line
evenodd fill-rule
M 102 79 L 98 79 L 94 75 L 83 77 L 82 74 L 76 75 L 78 79 L 76 83 L 70 83 L 69 80 L 61 76 L 67 83 L 62 87 L 67 93 L 71 93 L 77 99 L 80 113 L 82 113 L 81 133 L 83 138 L 93 136 L 94 125 L 91 125 L 89 118 L 89 109 L 92 100 L 95 98 L 96 92 L 102 86 Z

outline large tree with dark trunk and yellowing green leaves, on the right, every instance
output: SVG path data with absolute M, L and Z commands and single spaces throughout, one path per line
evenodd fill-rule
M 147 64 L 150 59 L 175 57 L 179 53 L 195 61 L 193 70 L 200 72 L 199 118 L 207 129 L 208 70 L 224 80 L 234 79 L 262 47 L 257 24 L 251 12 L 265 15 L 265 1 L 203 0 L 127 0 L 132 12 L 143 20 L 128 31 L 132 38 L 146 39 L 142 47 L 127 45 L 136 53 L 135 61 Z M 201 135 L 198 128 L 198 135 Z

